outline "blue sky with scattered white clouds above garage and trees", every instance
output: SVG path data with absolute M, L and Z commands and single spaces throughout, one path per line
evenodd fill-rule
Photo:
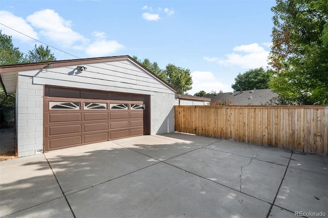
M 0 30 L 28 53 L 42 41 L 80 58 L 136 55 L 189 69 L 193 89 L 232 91 L 238 73 L 267 67 L 271 0 L 0 2 Z M 4 25 L 24 33 L 20 34 Z M 76 57 L 50 48 L 57 60 Z

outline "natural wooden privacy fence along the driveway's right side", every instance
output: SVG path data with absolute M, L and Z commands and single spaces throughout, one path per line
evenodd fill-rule
M 328 155 L 328 105 L 174 106 L 175 131 Z

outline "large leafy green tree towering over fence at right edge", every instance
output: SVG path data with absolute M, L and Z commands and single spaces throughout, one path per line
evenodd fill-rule
M 328 2 L 276 0 L 270 89 L 287 101 L 328 104 Z

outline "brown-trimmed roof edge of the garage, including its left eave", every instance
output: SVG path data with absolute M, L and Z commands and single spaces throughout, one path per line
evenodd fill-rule
M 29 71 L 29 70 L 41 70 L 56 67 L 66 67 L 74 65 L 83 65 L 91 63 L 100 63 L 100 62 L 111 62 L 111 61 L 121 61 L 129 60 L 136 64 L 137 67 L 144 70 L 146 73 L 152 75 L 158 81 L 166 85 L 170 90 L 176 93 L 176 90 L 169 85 L 167 82 L 159 78 L 156 74 L 149 71 L 147 68 L 142 66 L 139 62 L 134 60 L 129 55 L 124 56 L 112 56 L 112 57 L 97 57 L 97 58 L 85 58 L 85 59 L 72 59 L 72 60 L 56 60 L 56 61 L 47 61 L 47 62 L 38 62 L 38 63 L 24 63 L 24 64 L 12 64 L 0 66 L 0 82 L 6 93 L 15 93 L 17 85 L 17 72 L 18 71 Z

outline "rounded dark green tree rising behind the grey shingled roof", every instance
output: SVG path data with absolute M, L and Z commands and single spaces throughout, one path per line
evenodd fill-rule
M 231 85 L 234 91 L 268 89 L 272 71 L 265 71 L 263 68 L 256 68 L 238 74 L 235 83 Z

